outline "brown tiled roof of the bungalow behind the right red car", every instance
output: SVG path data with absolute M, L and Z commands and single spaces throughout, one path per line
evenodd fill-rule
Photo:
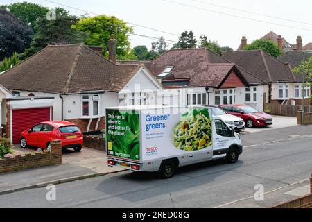
M 297 81 L 289 65 L 261 50 L 228 51 L 223 57 L 266 83 Z

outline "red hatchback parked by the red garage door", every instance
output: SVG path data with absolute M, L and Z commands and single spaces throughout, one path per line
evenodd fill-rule
M 67 121 L 46 121 L 21 133 L 21 147 L 35 146 L 51 149 L 51 142 L 60 139 L 62 148 L 80 151 L 83 147 L 83 135 L 76 124 Z

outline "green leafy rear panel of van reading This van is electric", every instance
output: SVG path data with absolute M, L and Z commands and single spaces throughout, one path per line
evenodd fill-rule
M 139 160 L 139 113 L 107 110 L 107 151 L 110 155 Z

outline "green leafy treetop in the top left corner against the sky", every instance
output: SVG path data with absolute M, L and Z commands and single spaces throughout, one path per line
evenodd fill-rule
M 46 17 L 46 13 L 49 12 L 49 8 L 26 1 L 10 4 L 8 9 L 15 17 L 29 24 L 32 28 L 35 28 L 37 19 Z

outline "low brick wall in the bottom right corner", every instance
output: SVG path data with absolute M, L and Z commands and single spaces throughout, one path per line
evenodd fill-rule
M 282 203 L 272 208 L 312 208 L 312 174 L 310 178 L 310 191 L 311 194 Z

